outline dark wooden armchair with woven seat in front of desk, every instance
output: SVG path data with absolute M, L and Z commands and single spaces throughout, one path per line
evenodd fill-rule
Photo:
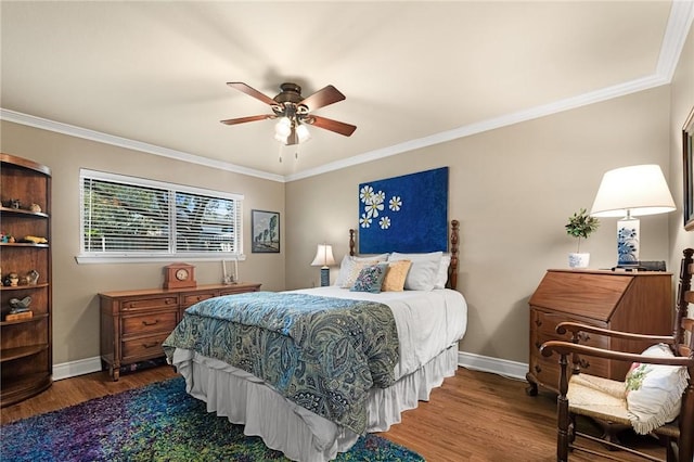
M 571 387 L 579 386 L 577 385 L 577 383 L 579 383 L 580 380 L 577 377 L 577 374 L 580 373 L 580 357 L 583 356 L 627 361 L 632 363 L 638 362 L 643 364 L 647 363 L 679 365 L 686 368 L 686 370 L 689 371 L 689 380 L 686 381 L 686 385 L 682 394 L 679 418 L 673 422 L 667 423 L 653 429 L 652 434 L 657 436 L 660 441 L 665 444 L 667 454 L 666 460 L 668 462 L 694 461 L 694 319 L 687 318 L 687 308 L 690 304 L 694 304 L 694 291 L 692 291 L 692 273 L 694 272 L 694 262 L 692 259 L 694 249 L 687 248 L 684 251 L 684 257 L 682 258 L 680 281 L 677 294 L 674 330 L 672 336 L 631 334 L 583 325 L 575 322 L 563 322 L 556 326 L 556 331 L 560 334 L 570 332 L 571 341 L 550 341 L 545 342 L 541 346 L 540 350 L 545 357 L 550 357 L 554 352 L 557 352 L 560 355 L 561 373 L 558 377 L 560 392 L 557 396 L 557 461 L 563 462 L 568 460 L 569 448 L 589 452 L 594 455 L 603 455 L 608 459 L 615 459 L 614 452 L 609 454 L 609 452 L 600 450 L 603 445 L 606 446 L 611 451 L 619 449 L 640 455 L 646 460 L 664 460 L 654 458 L 650 454 L 645 454 L 633 448 L 627 448 L 617 439 L 603 440 L 601 438 L 595 438 L 594 436 L 580 432 L 577 428 L 577 415 L 586 415 L 596 421 L 625 425 L 625 427 L 632 427 L 632 420 L 627 418 L 628 411 L 626 398 L 624 399 L 622 403 L 624 409 L 617 409 L 616 407 L 607 409 L 601 406 L 595 406 L 594 403 L 603 402 L 601 400 L 602 397 L 597 396 L 595 396 L 594 400 L 592 399 L 593 397 L 590 397 L 588 400 L 581 400 L 583 401 L 583 403 L 590 401 L 593 403 L 593 406 L 582 406 L 580 403 L 569 402 L 568 396 L 571 395 Z M 694 312 L 692 313 L 692 316 L 694 316 Z M 579 345 L 579 341 L 581 338 L 584 338 L 586 335 L 608 335 L 622 339 L 639 341 L 644 342 L 644 346 L 666 344 L 673 356 L 650 357 Z M 571 358 L 570 361 L 573 364 L 570 373 L 568 371 L 569 356 Z M 660 370 L 663 370 L 663 368 L 660 368 Z M 667 368 L 666 370 L 670 371 L 670 369 Z M 590 376 L 586 377 L 586 375 L 587 374 L 582 374 L 582 378 L 590 378 Z M 599 380 L 609 383 L 614 382 L 603 378 Z M 622 390 L 625 389 L 625 383 L 615 382 L 615 385 L 617 387 L 621 386 Z M 574 388 L 574 390 L 576 388 Z M 575 399 L 575 401 L 578 401 L 578 399 Z M 580 446 L 577 437 L 599 441 L 601 445 L 596 445 L 599 449 L 590 449 L 586 446 Z

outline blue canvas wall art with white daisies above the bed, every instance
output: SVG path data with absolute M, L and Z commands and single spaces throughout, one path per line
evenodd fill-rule
M 448 251 L 448 167 L 359 184 L 359 253 Z

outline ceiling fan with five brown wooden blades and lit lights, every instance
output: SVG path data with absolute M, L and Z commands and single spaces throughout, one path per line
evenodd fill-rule
M 301 97 L 301 87 L 291 82 L 282 84 L 280 86 L 282 91 L 274 98 L 267 97 L 241 81 L 230 81 L 227 85 L 268 104 L 272 108 L 272 114 L 230 118 L 221 120 L 222 124 L 236 125 L 279 118 L 280 120 L 274 128 L 274 138 L 286 145 L 298 144 L 309 139 L 307 125 L 334 131 L 345 137 L 349 137 L 357 129 L 354 125 L 311 114 L 312 111 L 345 99 L 345 95 L 332 85 L 307 98 Z

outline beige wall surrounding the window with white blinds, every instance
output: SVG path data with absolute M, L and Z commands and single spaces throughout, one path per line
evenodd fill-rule
M 55 364 L 99 357 L 99 292 L 159 287 L 162 268 L 168 262 L 134 265 L 78 265 L 79 169 L 136 177 L 242 193 L 244 201 L 244 251 L 239 265 L 244 281 L 262 282 L 262 288 L 284 288 L 284 253 L 250 253 L 250 209 L 280 213 L 284 241 L 284 184 L 213 169 L 200 165 L 129 151 L 31 127 L 2 121 L 4 153 L 47 165 L 52 172 L 53 256 L 53 362 Z M 198 284 L 221 281 L 221 264 L 195 265 Z

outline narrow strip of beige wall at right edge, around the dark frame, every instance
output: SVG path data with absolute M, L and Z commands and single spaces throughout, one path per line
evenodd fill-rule
M 684 195 L 682 168 L 682 127 L 694 110 L 694 28 L 690 29 L 677 70 L 670 85 L 670 190 L 677 211 L 670 214 L 670 268 L 679 268 L 682 249 L 694 247 L 694 232 L 684 231 L 682 197 Z M 677 271 L 677 270 L 676 270 Z M 692 313 L 690 313 L 692 316 Z

